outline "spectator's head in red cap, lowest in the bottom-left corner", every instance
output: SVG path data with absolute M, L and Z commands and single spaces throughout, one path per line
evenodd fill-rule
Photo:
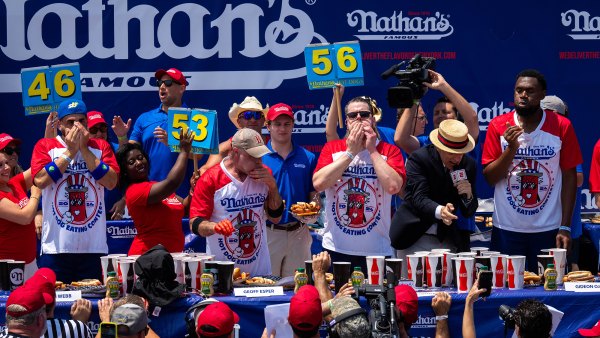
M 6 326 L 12 333 L 41 337 L 46 332 L 46 303 L 42 293 L 30 286 L 21 286 L 6 301 Z

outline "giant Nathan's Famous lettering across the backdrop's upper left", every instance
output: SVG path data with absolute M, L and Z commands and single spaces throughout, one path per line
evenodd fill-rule
M 176 60 L 190 57 L 254 59 L 264 55 L 289 59 L 303 54 L 308 44 L 327 42 L 315 32 L 311 17 L 293 8 L 290 0 L 265 1 L 267 8 L 248 2 L 223 3 L 207 9 L 189 2 L 168 10 L 157 9 L 152 1 L 139 5 L 128 2 L 90 0 L 77 8 L 62 2 L 41 6 L 47 2 L 5 0 L 0 5 L 5 7 L 3 12 L 11 15 L 5 20 L 6 34 L 0 36 L 5 43 L 0 49 L 14 61 L 79 60 L 88 55 L 98 60 L 153 60 L 163 54 Z M 220 8 L 215 10 L 214 7 Z M 52 39 L 47 38 L 50 35 Z M 181 37 L 187 39 L 182 41 Z M 210 73 L 183 71 L 197 90 L 270 89 L 277 88 L 283 80 L 306 75 L 304 63 L 298 64 L 296 69 L 259 70 L 262 76 L 239 76 L 243 73 L 241 69 Z M 264 80 L 267 76 L 268 88 Z M 202 80 L 207 77 L 232 80 Z M 117 70 L 81 74 L 82 87 L 104 87 L 106 91 L 121 87 L 156 90 L 152 78 L 153 73 L 144 76 L 133 70 L 125 74 Z M 0 86 L 0 92 L 7 88 Z

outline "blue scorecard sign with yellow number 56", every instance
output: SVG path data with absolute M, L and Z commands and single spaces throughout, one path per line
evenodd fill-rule
M 358 42 L 313 44 L 304 49 L 309 89 L 364 85 L 362 58 Z

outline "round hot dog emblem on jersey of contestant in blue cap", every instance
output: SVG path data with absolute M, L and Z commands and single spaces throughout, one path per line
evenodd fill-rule
M 57 187 L 54 206 L 58 218 L 72 226 L 86 225 L 96 216 L 98 195 L 83 174 L 71 174 Z M 60 194 L 64 191 L 64 194 Z

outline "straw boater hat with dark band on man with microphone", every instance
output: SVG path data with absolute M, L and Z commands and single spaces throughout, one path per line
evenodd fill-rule
M 465 154 L 475 147 L 469 129 L 458 120 L 442 121 L 439 128 L 429 133 L 429 139 L 436 148 L 453 154 Z

